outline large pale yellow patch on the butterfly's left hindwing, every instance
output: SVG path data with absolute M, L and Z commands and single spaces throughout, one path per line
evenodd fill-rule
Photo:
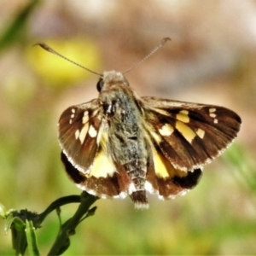
M 89 177 L 112 177 L 116 172 L 113 162 L 108 158 L 107 154 L 101 150 L 94 160 L 93 166 L 90 169 Z

